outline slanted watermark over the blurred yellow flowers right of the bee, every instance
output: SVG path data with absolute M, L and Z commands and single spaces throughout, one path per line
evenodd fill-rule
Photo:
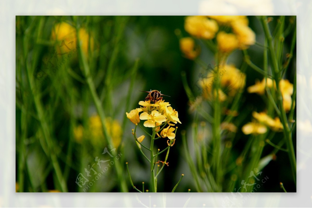
M 189 97 L 193 97 L 192 99 L 190 99 L 190 101 L 188 102 L 189 106 L 192 106 L 198 98 L 202 97 L 203 93 L 205 93 L 205 91 L 208 90 L 212 87 L 212 85 L 218 81 L 219 78 L 221 78 L 221 76 L 226 72 L 225 69 L 218 69 L 218 67 L 220 66 L 220 64 L 215 65 L 214 67 L 211 66 L 211 64 L 208 64 L 207 69 L 205 69 L 207 72 L 208 71 L 212 71 L 214 73 L 214 75 L 212 76 L 204 76 L 201 72 L 198 74 L 198 80 L 194 83 L 192 82 L 192 87 L 191 90 L 192 92 L 194 92 L 194 94 L 196 95 L 196 97 L 193 97 L 193 95 L 188 95 Z M 204 89 L 202 89 L 202 87 L 198 86 L 198 82 L 202 82 L 202 85 L 205 85 L 205 81 L 204 79 L 211 79 L 210 82 L 208 83 L 207 86 L 205 86 Z M 194 84 L 193 84 L 194 83 Z M 207 84 L 207 81 L 206 81 Z

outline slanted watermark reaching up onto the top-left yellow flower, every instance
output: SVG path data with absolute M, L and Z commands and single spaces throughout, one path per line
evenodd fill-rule
M 37 66 L 33 72 L 33 76 L 40 81 L 41 86 L 44 83 L 47 83 L 51 81 L 51 77 L 56 73 L 57 70 L 61 69 L 63 64 L 65 64 L 69 59 L 71 59 L 72 54 L 76 53 L 78 49 L 80 49 L 79 46 L 76 46 L 75 48 L 72 47 L 72 44 L 74 41 L 69 40 L 69 38 L 65 38 L 66 42 L 62 40 L 61 45 L 58 46 L 61 48 L 66 48 L 67 52 L 64 51 L 64 53 L 58 53 L 56 50 L 53 51 L 53 54 L 50 54 L 50 58 L 46 58 L 46 60 L 42 61 L 43 67 Z M 65 56 L 64 56 L 65 55 Z M 61 56 L 61 59 L 59 60 L 59 57 Z

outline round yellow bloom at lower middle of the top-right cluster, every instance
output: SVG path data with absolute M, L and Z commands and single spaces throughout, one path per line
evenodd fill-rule
M 217 43 L 219 51 L 229 53 L 238 48 L 238 40 L 235 34 L 220 31 L 217 34 Z

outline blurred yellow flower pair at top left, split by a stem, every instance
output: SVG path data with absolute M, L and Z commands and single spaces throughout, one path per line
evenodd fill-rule
M 82 51 L 85 55 L 88 55 L 89 41 L 90 41 L 90 50 L 94 48 L 94 40 L 89 36 L 87 31 L 84 28 L 79 30 L 79 38 L 81 42 Z M 59 41 L 59 45 L 56 47 L 58 53 L 69 53 L 76 49 L 77 45 L 77 33 L 76 28 L 71 26 L 66 22 L 58 23 L 52 29 L 51 34 L 52 40 Z

